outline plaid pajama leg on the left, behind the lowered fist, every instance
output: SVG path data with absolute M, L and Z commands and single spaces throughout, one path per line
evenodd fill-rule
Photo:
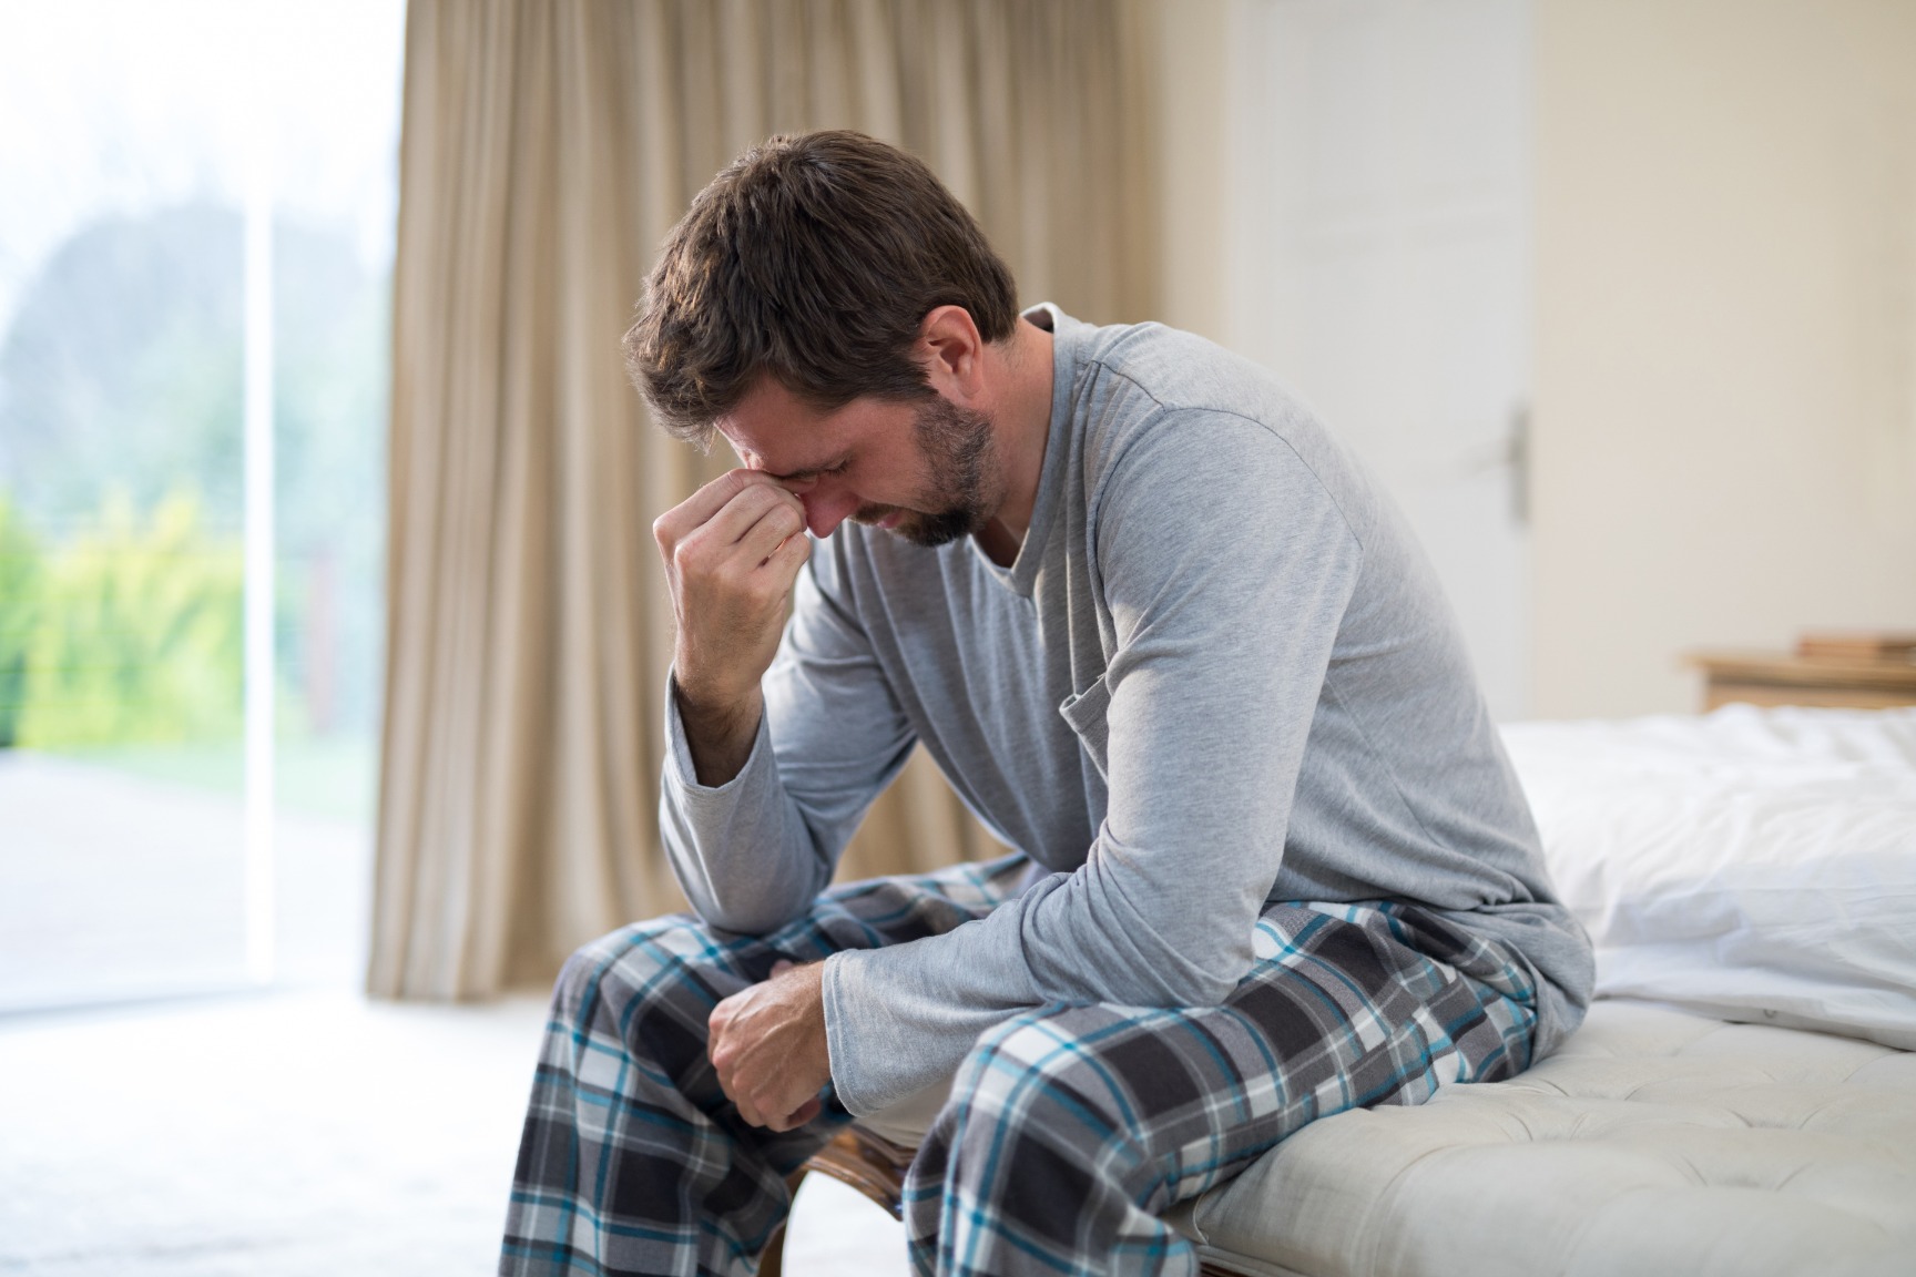
M 747 1126 L 705 1055 L 705 1020 L 780 957 L 902 944 L 983 917 L 1023 883 L 1006 856 L 835 888 L 768 934 L 692 917 L 617 930 L 554 990 L 500 1250 L 502 1273 L 751 1273 L 791 1202 L 786 1176 L 847 1120 Z

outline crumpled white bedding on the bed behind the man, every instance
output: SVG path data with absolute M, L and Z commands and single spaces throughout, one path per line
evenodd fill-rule
M 1916 708 L 1514 724 L 1598 996 L 1916 1049 Z

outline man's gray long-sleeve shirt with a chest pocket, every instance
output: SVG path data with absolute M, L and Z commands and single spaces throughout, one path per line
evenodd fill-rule
M 694 779 L 667 697 L 661 819 L 694 906 L 753 932 L 803 913 L 922 741 L 1040 869 L 981 921 L 826 961 L 853 1112 L 1029 1007 L 1220 1001 L 1266 900 L 1410 900 L 1508 940 L 1550 1051 L 1583 1019 L 1588 938 L 1391 504 L 1255 364 L 1031 316 L 1056 337 L 1052 419 L 1012 567 L 841 525 L 722 787 Z

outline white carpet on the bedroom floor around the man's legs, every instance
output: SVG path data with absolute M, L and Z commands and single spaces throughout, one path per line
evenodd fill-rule
M 0 1019 L 0 1273 L 492 1273 L 542 1020 L 345 994 Z M 814 1177 L 786 1271 L 902 1273 L 902 1227 Z

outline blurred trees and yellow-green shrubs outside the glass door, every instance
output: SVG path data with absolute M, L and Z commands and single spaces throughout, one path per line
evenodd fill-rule
M 234 209 L 102 216 L 4 324 L 0 749 L 240 739 L 240 245 Z M 370 752 L 387 276 L 339 228 L 285 220 L 272 278 L 278 733 Z

